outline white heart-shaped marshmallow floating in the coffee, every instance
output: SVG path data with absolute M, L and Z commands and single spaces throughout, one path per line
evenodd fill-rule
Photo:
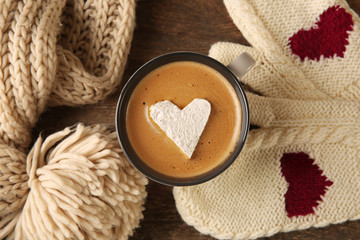
M 211 104 L 195 98 L 182 110 L 170 101 L 150 107 L 150 117 L 191 158 L 211 112 Z

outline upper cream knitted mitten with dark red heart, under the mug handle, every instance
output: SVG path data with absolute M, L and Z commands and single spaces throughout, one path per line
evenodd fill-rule
M 359 100 L 360 20 L 346 2 L 224 2 L 253 48 L 217 43 L 210 55 L 228 64 L 250 53 L 257 65 L 243 82 L 265 96 Z

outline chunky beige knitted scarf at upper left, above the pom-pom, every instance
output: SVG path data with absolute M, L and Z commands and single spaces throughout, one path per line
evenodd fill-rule
M 115 91 L 130 48 L 134 1 L 5 1 L 0 12 L 5 143 L 27 147 L 29 128 L 48 100 L 86 104 Z

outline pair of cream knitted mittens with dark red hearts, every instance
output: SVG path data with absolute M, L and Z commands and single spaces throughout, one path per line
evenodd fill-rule
M 255 57 L 242 81 L 263 95 L 247 93 L 251 123 L 260 128 L 220 176 L 174 188 L 180 215 L 221 239 L 359 219 L 358 16 L 342 1 L 225 5 L 254 48 L 217 43 L 210 56 L 224 64 L 243 51 Z M 326 43 L 339 35 L 342 45 Z

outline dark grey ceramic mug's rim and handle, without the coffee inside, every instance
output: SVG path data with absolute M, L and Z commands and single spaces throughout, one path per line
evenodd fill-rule
M 135 152 L 132 147 L 129 137 L 126 130 L 126 113 L 128 108 L 128 103 L 132 92 L 138 85 L 138 83 L 151 71 L 161 67 L 165 64 L 179 61 L 192 61 L 201 64 L 205 64 L 217 72 L 219 72 L 225 79 L 229 81 L 231 86 L 234 88 L 236 95 L 239 99 L 241 106 L 241 130 L 238 141 L 235 145 L 235 149 L 232 151 L 231 155 L 223 161 L 221 164 L 213 168 L 212 170 L 203 173 L 201 175 L 192 176 L 188 178 L 176 178 L 172 176 L 164 175 L 160 172 L 149 167 Z M 241 54 L 237 57 L 232 63 L 228 66 L 223 65 L 217 60 L 194 52 L 173 52 L 168 53 L 157 58 L 150 60 L 140 67 L 128 80 L 127 84 L 124 86 L 119 101 L 116 108 L 115 115 L 115 126 L 118 135 L 120 145 L 129 159 L 129 161 L 145 176 L 148 178 L 171 186 L 190 186 L 195 184 L 200 184 L 206 182 L 220 173 L 225 171 L 237 158 L 241 149 L 245 144 L 245 140 L 249 131 L 249 109 L 248 102 L 245 96 L 245 92 L 241 87 L 238 79 L 240 79 L 245 73 L 254 65 L 253 58 L 247 53 Z M 161 156 L 159 156 L 161 157 Z

